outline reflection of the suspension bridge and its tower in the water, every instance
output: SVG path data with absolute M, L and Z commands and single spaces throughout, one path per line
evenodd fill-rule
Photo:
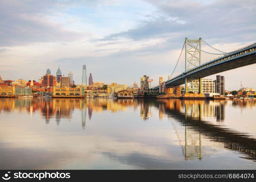
M 177 121 L 173 127 L 185 159 L 202 159 L 225 148 L 255 161 L 255 138 L 207 121 L 208 117 L 215 117 L 217 123 L 225 121 L 225 100 L 161 99 L 158 102 L 159 118 L 165 114 Z M 248 105 L 255 107 L 255 102 Z

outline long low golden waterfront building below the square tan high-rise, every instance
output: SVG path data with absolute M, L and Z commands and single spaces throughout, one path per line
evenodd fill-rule
M 53 96 L 82 96 L 84 93 L 83 87 L 53 87 Z

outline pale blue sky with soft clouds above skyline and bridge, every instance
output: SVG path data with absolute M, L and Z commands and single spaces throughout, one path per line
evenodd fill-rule
M 185 37 L 224 52 L 256 42 L 255 0 L 1 0 L 0 75 L 38 82 L 60 65 L 82 83 L 167 80 Z M 226 90 L 256 88 L 256 64 L 222 72 Z M 207 78 L 215 79 L 216 75 Z

